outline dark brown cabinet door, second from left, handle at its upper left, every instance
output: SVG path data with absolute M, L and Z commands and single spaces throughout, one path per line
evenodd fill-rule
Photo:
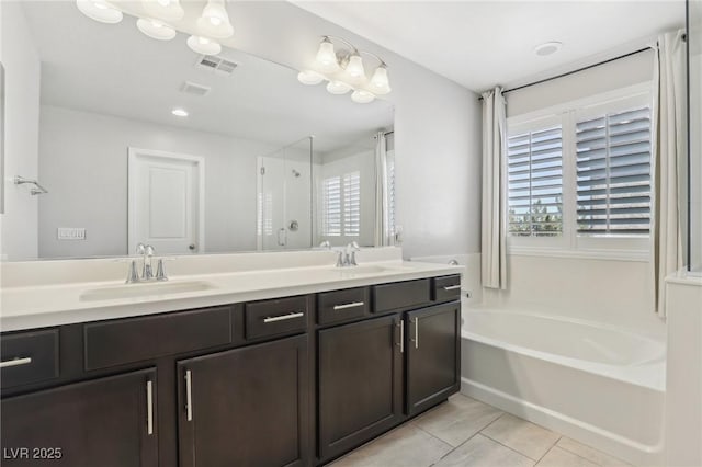
M 305 465 L 307 367 L 306 335 L 179 362 L 180 465 Z

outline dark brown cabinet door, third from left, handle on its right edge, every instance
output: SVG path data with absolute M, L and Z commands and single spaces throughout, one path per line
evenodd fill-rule
M 342 454 L 401 418 L 399 315 L 319 331 L 319 451 Z

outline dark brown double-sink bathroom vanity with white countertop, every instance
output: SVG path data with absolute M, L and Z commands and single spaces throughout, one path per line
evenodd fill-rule
M 83 309 L 3 312 L 3 465 L 320 465 L 456 392 L 461 270 L 356 271 L 219 273 L 176 297 L 53 286 Z

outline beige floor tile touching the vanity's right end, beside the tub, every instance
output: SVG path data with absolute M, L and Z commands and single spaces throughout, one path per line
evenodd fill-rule
M 501 414 L 491 406 L 458 394 L 412 423 L 455 447 Z

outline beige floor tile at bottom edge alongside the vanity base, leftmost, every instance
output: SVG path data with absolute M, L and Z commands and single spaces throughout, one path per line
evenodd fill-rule
M 331 464 L 333 467 L 428 467 L 451 446 L 406 424 Z

